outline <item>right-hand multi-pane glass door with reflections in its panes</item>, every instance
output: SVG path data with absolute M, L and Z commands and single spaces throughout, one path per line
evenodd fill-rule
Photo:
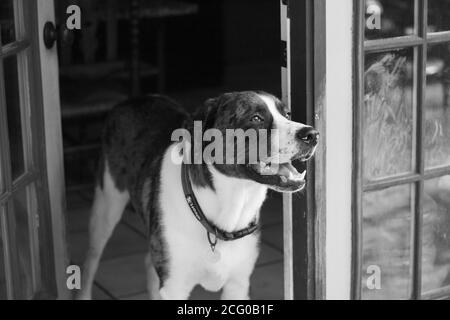
M 450 1 L 355 4 L 354 298 L 448 298 Z

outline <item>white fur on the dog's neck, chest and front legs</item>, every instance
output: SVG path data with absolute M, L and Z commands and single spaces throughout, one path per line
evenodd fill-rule
M 169 255 L 169 278 L 162 288 L 167 299 L 186 299 L 192 288 L 201 284 L 209 290 L 224 289 L 224 295 L 235 299 L 248 298 L 248 282 L 258 257 L 258 238 L 250 235 L 235 241 L 220 241 L 218 262 L 205 228 L 197 221 L 186 203 L 181 185 L 181 165 L 172 161 L 171 146 L 161 169 L 160 207 L 163 236 Z M 216 192 L 193 186 L 205 216 L 218 227 L 234 231 L 244 228 L 259 216 L 267 187 L 252 181 L 227 177 L 212 169 Z M 236 283 L 241 289 L 236 290 Z

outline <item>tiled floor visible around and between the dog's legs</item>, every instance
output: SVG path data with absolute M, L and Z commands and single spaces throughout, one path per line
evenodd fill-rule
M 68 195 L 68 241 L 72 263 L 82 265 L 87 248 L 91 205 L 89 191 Z M 105 249 L 93 290 L 94 299 L 147 299 L 143 224 L 127 210 Z M 283 298 L 281 196 L 269 194 L 262 210 L 261 253 L 251 279 L 252 299 Z M 218 299 L 220 293 L 197 287 L 191 299 Z

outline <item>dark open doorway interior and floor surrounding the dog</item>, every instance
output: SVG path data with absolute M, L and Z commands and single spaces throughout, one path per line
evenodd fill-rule
M 197 0 L 181 7 L 161 1 L 159 9 L 146 8 L 142 1 L 138 28 L 132 12 L 130 16 L 115 13 L 121 3 L 113 2 L 79 1 L 85 5 L 82 28 L 59 44 L 68 249 L 70 263 L 76 265 L 82 264 L 87 250 L 103 118 L 136 90 L 130 88 L 135 85 L 130 77 L 136 50 L 138 91 L 167 94 L 188 111 L 230 91 L 264 90 L 281 96 L 278 1 L 258 1 L 258 10 L 255 1 Z M 55 4 L 61 25 L 67 3 Z M 132 8 L 119 11 L 124 10 Z M 158 10 L 171 14 L 155 17 Z M 139 33 L 139 48 L 131 39 L 132 30 Z M 143 228 L 140 217 L 127 209 L 105 249 L 94 299 L 147 299 Z M 261 254 L 251 280 L 252 299 L 284 298 L 283 241 L 282 196 L 269 193 L 262 209 Z M 191 299 L 218 297 L 200 287 L 191 295 Z

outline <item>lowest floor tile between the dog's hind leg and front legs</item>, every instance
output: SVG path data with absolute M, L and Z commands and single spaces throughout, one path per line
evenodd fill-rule
M 145 254 L 102 261 L 96 280 L 116 297 L 147 290 Z

